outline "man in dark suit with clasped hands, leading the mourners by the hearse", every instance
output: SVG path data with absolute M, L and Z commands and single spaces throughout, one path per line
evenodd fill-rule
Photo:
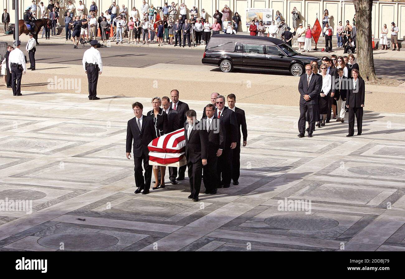
M 310 64 L 305 65 L 305 75 L 302 75 L 300 82 L 298 83 L 298 92 L 300 92 L 300 118 L 298 119 L 298 137 L 303 138 L 305 134 L 305 120 L 308 111 L 309 116 L 309 127 L 308 127 L 308 137 L 312 137 L 313 127 L 315 127 L 314 116 L 315 116 L 315 105 L 318 104 L 318 93 L 320 92 L 320 87 L 322 81 L 320 77 L 315 75 L 312 71 L 312 66 Z

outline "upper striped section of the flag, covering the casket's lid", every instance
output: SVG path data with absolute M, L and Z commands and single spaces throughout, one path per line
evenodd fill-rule
M 155 138 L 148 145 L 149 151 L 181 153 L 185 149 L 184 128 Z

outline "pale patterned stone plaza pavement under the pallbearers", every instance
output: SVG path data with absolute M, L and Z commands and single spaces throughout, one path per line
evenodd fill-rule
M 126 126 L 149 98 L 22 93 L 0 90 L 0 201 L 32 213 L 0 211 L 0 251 L 405 251 L 405 114 L 366 111 L 361 136 L 331 122 L 300 139 L 297 107 L 238 104 L 240 184 L 196 203 L 188 179 L 134 194 Z M 201 115 L 206 102 L 185 101 Z M 286 198 L 311 210 L 280 211 Z

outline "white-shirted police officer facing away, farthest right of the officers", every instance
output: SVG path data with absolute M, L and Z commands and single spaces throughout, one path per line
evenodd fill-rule
M 87 49 L 83 54 L 83 68 L 86 71 L 87 79 L 89 81 L 89 100 L 100 100 L 97 97 L 97 81 L 98 75 L 102 72 L 102 60 L 100 51 L 97 48 L 98 41 L 92 40 L 90 42 L 90 49 Z

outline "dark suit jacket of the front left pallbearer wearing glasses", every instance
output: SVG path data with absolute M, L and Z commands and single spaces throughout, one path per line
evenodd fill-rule
M 126 152 L 131 152 L 132 140 L 134 141 L 134 157 L 148 155 L 148 144 L 156 138 L 155 125 L 153 118 L 143 115 L 141 132 L 139 132 L 138 119 L 136 117 L 128 121 Z

